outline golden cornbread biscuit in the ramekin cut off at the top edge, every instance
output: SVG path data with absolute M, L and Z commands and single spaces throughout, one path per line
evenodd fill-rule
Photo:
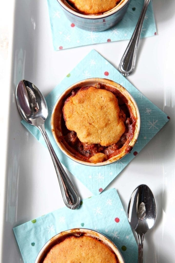
M 114 8 L 121 0 L 68 0 L 81 13 L 100 14 Z

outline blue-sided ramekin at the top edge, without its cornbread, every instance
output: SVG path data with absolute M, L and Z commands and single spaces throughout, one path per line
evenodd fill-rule
M 129 6 L 130 0 L 121 0 L 113 9 L 95 15 L 86 15 L 78 13 L 66 0 L 57 0 L 61 5 L 66 17 L 75 24 L 75 26 L 87 31 L 104 31 L 120 22 Z

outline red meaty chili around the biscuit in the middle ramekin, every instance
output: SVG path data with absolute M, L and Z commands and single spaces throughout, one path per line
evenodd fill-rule
M 59 137 L 60 141 L 66 146 L 66 149 L 74 154 L 78 159 L 88 161 L 90 157 L 97 153 L 104 153 L 108 156 L 108 159 L 112 158 L 121 153 L 122 147 L 125 145 L 125 153 L 129 153 L 132 150 L 132 147 L 129 146 L 130 141 L 134 136 L 136 118 L 132 113 L 130 105 L 128 105 L 128 100 L 126 97 L 117 89 L 107 86 L 105 84 L 98 83 L 96 87 L 100 89 L 105 89 L 112 92 L 118 99 L 119 108 L 121 110 L 121 117 L 124 119 L 125 132 L 121 136 L 120 140 L 117 143 L 114 143 L 109 146 L 102 146 L 100 144 L 87 144 L 82 143 L 75 131 L 70 131 L 67 129 L 65 120 L 62 114 L 62 136 Z M 71 95 L 68 95 L 64 103 L 77 94 L 79 90 L 88 89 L 89 87 L 78 87 L 74 89 Z M 63 104 L 64 104 L 63 103 Z

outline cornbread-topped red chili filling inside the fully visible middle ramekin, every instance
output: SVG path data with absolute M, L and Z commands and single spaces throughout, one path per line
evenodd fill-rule
M 62 112 L 59 140 L 76 158 L 98 163 L 131 151 L 136 118 L 118 89 L 101 83 L 78 87 Z

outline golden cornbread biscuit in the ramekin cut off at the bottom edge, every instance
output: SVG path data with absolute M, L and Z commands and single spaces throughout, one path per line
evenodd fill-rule
M 70 236 L 53 246 L 43 263 L 116 263 L 114 252 L 90 236 Z

